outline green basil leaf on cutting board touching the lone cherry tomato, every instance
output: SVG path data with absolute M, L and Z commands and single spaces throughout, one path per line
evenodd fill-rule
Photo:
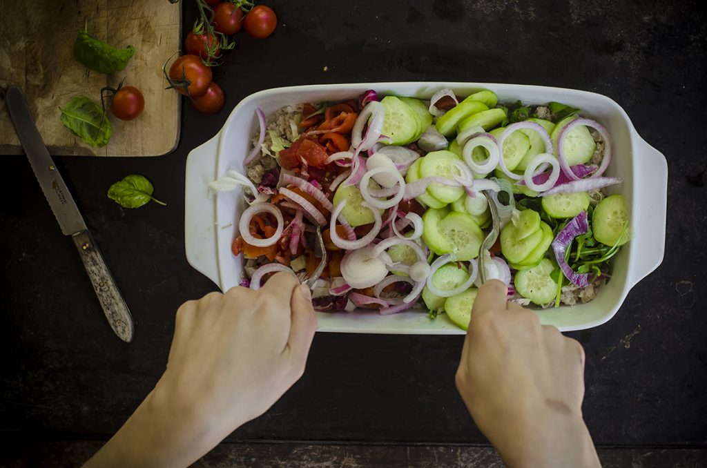
M 62 109 L 62 124 L 94 148 L 107 145 L 113 134 L 103 108 L 86 96 L 78 96 L 66 104 Z

